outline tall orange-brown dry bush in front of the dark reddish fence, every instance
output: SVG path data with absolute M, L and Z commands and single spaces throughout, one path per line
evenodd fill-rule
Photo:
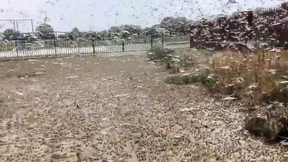
M 251 53 L 219 52 L 209 62 L 217 80 L 214 90 L 225 95 L 235 94 L 251 108 L 271 102 L 287 105 L 287 52 Z

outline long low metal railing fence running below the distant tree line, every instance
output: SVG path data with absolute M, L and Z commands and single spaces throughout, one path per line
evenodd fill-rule
M 0 41 L 0 59 L 25 58 L 25 57 L 57 57 L 75 54 L 114 54 L 137 53 L 148 51 L 153 47 L 181 49 L 189 48 L 189 35 L 161 38 L 149 38 L 146 42 L 132 43 L 125 40 L 118 43 L 103 42 L 97 39 L 78 41 L 63 41 L 57 38 L 45 40 L 41 43 L 26 40 Z

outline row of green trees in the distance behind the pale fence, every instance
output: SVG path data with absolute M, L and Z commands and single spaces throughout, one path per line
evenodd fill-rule
M 80 32 L 78 28 L 73 28 L 70 32 L 60 33 L 55 35 L 53 27 L 47 23 L 40 24 L 36 28 L 36 35 L 23 35 L 21 32 L 14 31 L 14 29 L 6 29 L 3 32 L 3 39 L 6 40 L 30 40 L 42 39 L 52 40 L 56 37 L 63 40 L 77 40 L 77 39 L 99 39 L 99 40 L 122 40 L 132 39 L 135 37 L 143 37 L 149 35 L 150 37 L 161 37 L 163 33 L 168 35 L 185 35 L 190 31 L 192 21 L 185 17 L 165 17 L 159 24 L 147 28 L 141 28 L 137 25 L 121 25 L 113 26 L 109 30 L 103 31 L 88 31 Z

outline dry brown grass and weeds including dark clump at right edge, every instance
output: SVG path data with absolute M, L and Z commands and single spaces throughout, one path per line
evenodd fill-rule
M 170 77 L 168 80 L 174 81 L 170 83 L 200 83 L 213 96 L 226 95 L 229 96 L 227 100 L 240 99 L 246 110 L 252 112 L 251 118 L 246 121 L 246 130 L 272 139 L 279 135 L 288 137 L 287 51 L 258 51 L 254 54 L 226 51 L 214 55 L 186 51 L 186 55 L 195 61 L 195 66 L 186 70 L 187 75 Z M 183 76 L 192 79 L 185 82 Z M 210 82 L 207 82 L 209 79 Z

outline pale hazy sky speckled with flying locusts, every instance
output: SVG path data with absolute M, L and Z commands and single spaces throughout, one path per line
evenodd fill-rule
M 224 12 L 279 5 L 278 0 L 1 0 L 1 19 L 33 19 L 34 31 L 44 21 L 45 13 L 54 31 L 103 30 L 121 24 L 141 27 L 158 24 L 166 16 L 197 19 Z M 229 9 L 230 8 L 230 9 Z M 14 28 L 0 21 L 0 32 Z M 17 29 L 17 28 L 16 28 Z M 19 31 L 32 32 L 31 22 L 19 22 Z

